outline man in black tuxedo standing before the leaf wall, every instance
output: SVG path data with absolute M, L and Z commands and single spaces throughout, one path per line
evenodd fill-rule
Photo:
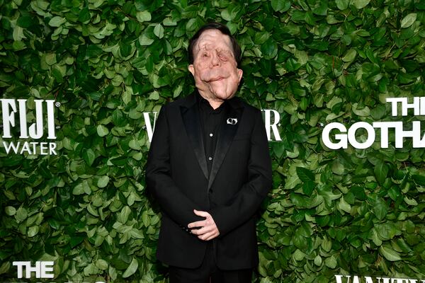
M 147 160 L 147 187 L 162 209 L 157 258 L 170 282 L 251 282 L 255 219 L 271 187 L 261 111 L 234 97 L 241 49 L 208 23 L 189 42 L 197 90 L 162 107 Z

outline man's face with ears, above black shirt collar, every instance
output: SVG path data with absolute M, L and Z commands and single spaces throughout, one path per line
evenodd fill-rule
M 232 52 L 230 37 L 220 30 L 205 30 L 193 48 L 193 64 L 188 67 L 203 98 L 221 103 L 232 98 L 242 79 L 242 70 Z

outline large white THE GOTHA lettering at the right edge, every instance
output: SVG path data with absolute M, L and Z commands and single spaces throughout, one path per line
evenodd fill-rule
M 413 103 L 409 103 L 408 98 L 387 98 L 387 103 L 391 103 L 391 115 L 398 116 L 398 106 L 401 106 L 402 117 L 407 116 L 409 109 L 413 109 L 414 115 L 425 115 L 425 97 L 414 97 Z M 380 147 L 387 149 L 389 146 L 388 135 L 389 131 L 395 132 L 395 147 L 400 149 L 403 147 L 404 138 L 412 139 L 414 148 L 425 147 L 425 135 L 421 136 L 421 121 L 409 122 L 412 125 L 412 130 L 404 130 L 404 125 L 407 122 L 356 122 L 348 129 L 344 124 L 333 122 L 326 125 L 322 131 L 322 141 L 329 149 L 347 149 L 348 144 L 351 144 L 355 149 L 367 149 L 375 142 L 376 129 L 380 129 Z M 338 134 L 331 134 L 336 129 Z M 363 129 L 367 133 L 364 141 L 356 139 L 356 132 Z M 331 137 L 334 137 L 331 140 Z

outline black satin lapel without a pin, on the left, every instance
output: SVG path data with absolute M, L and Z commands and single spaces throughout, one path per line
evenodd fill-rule
M 199 166 L 202 169 L 205 178 L 208 179 L 208 167 L 205 159 L 205 149 L 203 146 L 198 105 L 194 103 L 189 108 L 181 107 L 181 117 L 183 117 L 186 133 L 191 141 L 191 146 L 193 151 L 195 151 L 196 158 L 198 158 Z

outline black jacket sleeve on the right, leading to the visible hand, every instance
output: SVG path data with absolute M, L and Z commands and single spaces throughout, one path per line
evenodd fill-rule
M 259 209 L 272 185 L 271 158 L 260 111 L 256 112 L 249 154 L 248 182 L 227 204 L 210 211 L 220 236 L 250 219 Z

